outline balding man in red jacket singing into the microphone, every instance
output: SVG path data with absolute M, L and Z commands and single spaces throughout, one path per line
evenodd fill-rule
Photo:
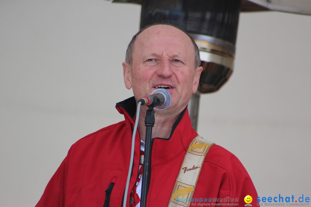
M 152 25 L 137 33 L 123 62 L 126 88 L 134 97 L 117 103 L 125 120 L 100 129 L 72 145 L 67 157 L 48 183 L 37 206 L 118 206 L 127 193 L 127 206 L 139 189 L 140 148 L 145 141 L 142 107 L 135 137 L 135 153 L 129 184 L 128 175 L 132 128 L 137 101 L 156 88 L 166 88 L 171 104 L 155 112 L 152 129 L 151 178 L 147 206 L 168 206 L 180 166 L 197 133 L 191 127 L 187 104 L 197 91 L 202 71 L 198 49 L 182 30 L 170 25 Z M 205 135 L 208 136 L 208 135 Z M 204 137 L 204 135 L 203 135 Z M 142 143 L 142 144 L 141 144 Z M 208 151 L 191 205 L 228 203 L 245 205 L 244 197 L 257 198 L 248 173 L 239 160 L 224 148 Z M 139 198 L 138 198 L 139 199 Z M 233 199 L 233 200 L 231 200 Z M 254 199 L 256 200 L 256 199 Z M 133 200 L 131 200 L 131 203 Z M 137 204 L 139 200 L 135 200 Z M 251 204 L 256 205 L 255 201 Z

